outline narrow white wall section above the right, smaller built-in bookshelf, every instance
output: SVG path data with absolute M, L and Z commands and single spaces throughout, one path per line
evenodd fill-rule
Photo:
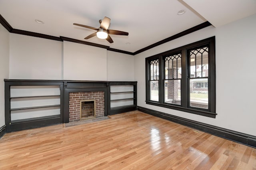
M 134 56 L 107 51 L 108 81 L 134 81 Z

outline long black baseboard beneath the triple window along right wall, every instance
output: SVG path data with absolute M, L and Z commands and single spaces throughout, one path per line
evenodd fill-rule
M 213 134 L 215 136 L 219 136 L 228 140 L 232 140 L 234 142 L 238 142 L 238 143 L 256 148 L 256 136 L 252 136 L 252 135 L 241 133 L 241 132 L 236 132 L 234 130 L 229 130 L 226 128 L 216 127 L 213 125 L 208 125 L 208 124 L 197 122 L 197 121 L 192 121 L 189 119 L 185 119 L 185 118 L 174 116 L 174 115 L 169 115 L 166 113 L 154 111 L 154 110 L 147 109 L 140 106 L 137 106 L 137 109 L 138 111 L 141 111 L 156 117 L 160 117 L 162 119 L 166 119 L 168 121 L 172 121 L 180 125 L 195 128 L 203 132 Z

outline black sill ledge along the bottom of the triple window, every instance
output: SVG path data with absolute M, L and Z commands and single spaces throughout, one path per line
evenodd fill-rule
M 211 117 L 211 118 L 216 118 L 216 115 L 217 115 L 217 113 L 212 113 L 212 112 L 197 110 L 197 109 L 191 109 L 191 108 L 185 108 L 185 107 L 176 106 L 176 105 L 168 105 L 165 103 L 158 103 L 158 102 L 154 102 L 154 101 L 146 101 L 146 104 L 159 106 L 159 107 L 165 107 L 168 109 L 174 109 L 174 110 L 178 110 L 178 111 L 184 111 L 184 112 L 193 113 L 196 115 L 201 115 L 201 116 L 206 116 L 206 117 Z

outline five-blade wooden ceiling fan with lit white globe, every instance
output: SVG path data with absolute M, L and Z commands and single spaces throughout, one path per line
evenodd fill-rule
M 108 30 L 108 27 L 110 25 L 110 18 L 108 18 L 106 16 L 103 18 L 103 20 L 99 20 L 99 22 L 100 22 L 99 28 L 94 28 L 94 27 L 85 26 L 85 25 L 76 24 L 76 23 L 74 23 L 74 25 L 89 28 L 89 29 L 97 31 L 97 32 L 90 34 L 89 36 L 87 36 L 84 39 L 89 39 L 94 36 L 97 36 L 100 39 L 106 39 L 108 42 L 113 43 L 113 40 L 109 36 L 109 34 L 121 35 L 121 36 L 128 36 L 128 34 L 129 34 L 128 32 L 123 32 L 123 31 L 118 31 L 118 30 Z

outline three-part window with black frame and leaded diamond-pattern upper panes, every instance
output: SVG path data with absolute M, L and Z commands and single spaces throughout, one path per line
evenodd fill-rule
M 146 104 L 216 117 L 215 37 L 146 58 Z

